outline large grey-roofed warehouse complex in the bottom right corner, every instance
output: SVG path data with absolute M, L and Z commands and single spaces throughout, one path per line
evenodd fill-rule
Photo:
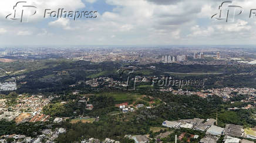
M 241 125 L 226 124 L 225 128 L 221 128 L 216 126 L 215 123 L 216 120 L 213 118 L 207 119 L 206 121 L 201 118 L 193 118 L 178 121 L 166 120 L 162 125 L 169 128 L 190 128 L 192 130 L 206 131 L 206 137 L 200 140 L 201 143 L 215 143 L 221 135 L 225 135 L 224 143 L 250 143 L 250 141 L 240 139 L 240 137 L 256 139 L 255 137 L 246 135 Z

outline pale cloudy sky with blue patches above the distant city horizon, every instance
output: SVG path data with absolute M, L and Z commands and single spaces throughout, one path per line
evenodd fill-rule
M 22 23 L 11 19 L 21 1 Z M 256 44 L 255 0 L 21 1 L 0 1 L 0 46 Z M 97 11 L 97 18 L 43 18 L 45 9 Z

